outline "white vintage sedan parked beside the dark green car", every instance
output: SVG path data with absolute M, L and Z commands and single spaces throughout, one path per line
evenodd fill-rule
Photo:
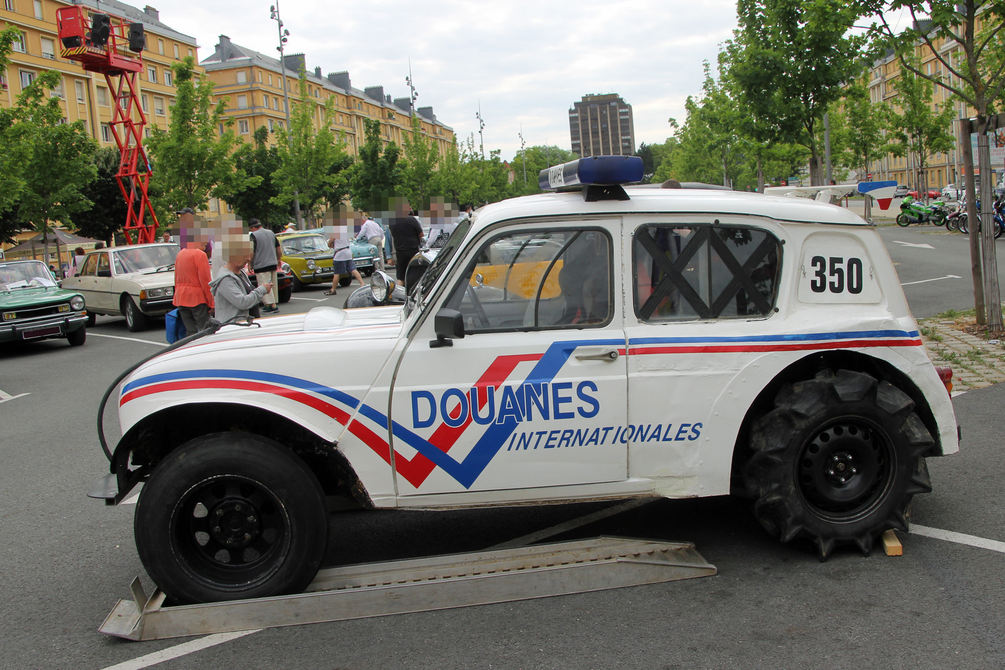
M 87 302 L 87 325 L 97 314 L 122 314 L 133 332 L 147 327 L 148 317 L 167 314 L 174 306 L 175 257 L 178 244 L 132 244 L 87 254 L 76 277 L 61 282 Z

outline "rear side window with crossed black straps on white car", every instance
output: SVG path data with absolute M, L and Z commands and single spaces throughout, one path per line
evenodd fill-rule
M 751 318 L 775 309 L 782 245 L 766 230 L 649 224 L 635 231 L 635 314 L 643 321 Z

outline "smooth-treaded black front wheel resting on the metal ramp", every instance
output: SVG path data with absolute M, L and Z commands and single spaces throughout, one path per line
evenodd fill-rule
M 314 473 L 281 445 L 245 433 L 171 452 L 144 486 L 135 519 L 144 567 L 178 603 L 299 593 L 328 540 Z

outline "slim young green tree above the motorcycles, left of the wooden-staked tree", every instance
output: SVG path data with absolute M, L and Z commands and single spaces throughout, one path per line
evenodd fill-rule
M 931 81 L 916 76 L 907 67 L 900 67 L 900 76 L 893 82 L 898 96 L 900 112 L 887 110 L 890 149 L 894 156 L 911 156 L 917 167 L 916 187 L 928 192 L 928 165 L 932 154 L 952 151 L 956 138 L 949 132 L 953 123 L 953 107 L 946 105 L 941 112 L 933 112 Z M 925 196 L 928 199 L 928 195 Z

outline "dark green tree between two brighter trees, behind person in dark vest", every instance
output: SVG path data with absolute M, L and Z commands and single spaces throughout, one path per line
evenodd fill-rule
M 244 185 L 240 190 L 227 193 L 227 203 L 234 213 L 248 220 L 257 218 L 270 227 L 285 225 L 293 215 L 289 203 L 277 205 L 272 198 L 279 194 L 274 175 L 280 168 L 279 150 L 268 144 L 268 128 L 259 126 L 252 135 L 253 144 L 242 144 L 234 152 L 234 167 L 248 177 L 261 177 L 257 185 Z

